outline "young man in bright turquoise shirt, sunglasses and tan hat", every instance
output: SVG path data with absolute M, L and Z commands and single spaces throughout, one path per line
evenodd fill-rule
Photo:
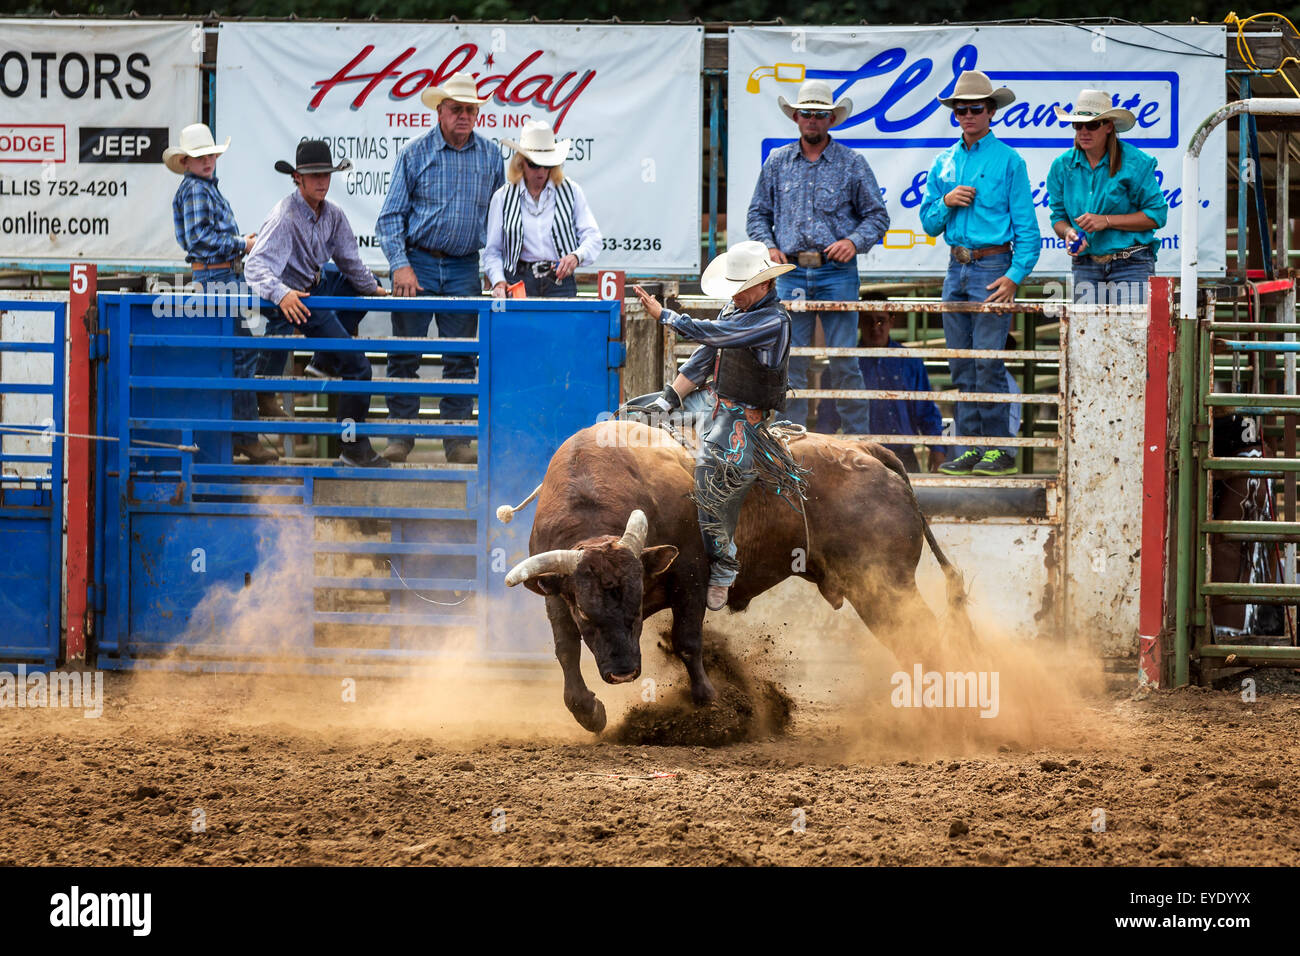
M 953 95 L 940 99 L 953 111 L 962 138 L 941 152 L 926 178 L 920 225 L 942 235 L 950 251 L 944 302 L 1011 302 L 1039 260 L 1040 237 L 1024 160 L 989 131 L 993 114 L 1015 100 L 1006 87 L 967 70 Z M 1001 349 L 1011 328 L 1010 312 L 944 312 L 949 349 Z M 1001 359 L 949 359 L 959 392 L 1006 392 Z M 1006 402 L 958 402 L 957 431 L 972 442 L 945 462 L 945 475 L 1014 475 L 1015 455 L 985 447 L 980 438 L 1010 437 Z

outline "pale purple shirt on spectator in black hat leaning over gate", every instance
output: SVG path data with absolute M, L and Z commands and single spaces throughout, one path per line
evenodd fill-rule
M 244 280 L 261 298 L 278 306 L 290 289 L 309 291 L 330 259 L 363 295 L 380 285 L 361 261 L 356 235 L 343 211 L 324 199 L 317 215 L 295 189 L 276 203 L 261 224 L 257 245 L 244 261 Z

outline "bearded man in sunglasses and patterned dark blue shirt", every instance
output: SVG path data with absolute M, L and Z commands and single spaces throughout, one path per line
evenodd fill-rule
M 889 213 L 867 160 L 827 131 L 853 112 L 853 101 L 846 96 L 832 101 L 829 85 L 810 79 L 800 87 L 796 103 L 784 96 L 777 103 L 798 126 L 800 138 L 774 150 L 763 164 L 745 230 L 767 246 L 774 263 L 796 267 L 776 280 L 777 298 L 857 302 L 858 256 L 889 229 Z M 828 346 L 858 345 L 855 312 L 794 312 L 792 345 L 812 345 L 819 315 Z M 790 388 L 807 386 L 807 369 L 809 356 L 790 358 Z M 833 389 L 863 388 L 862 369 L 853 358 L 832 358 L 829 377 Z M 848 433 L 870 434 L 867 402 L 841 398 L 836 406 Z M 785 416 L 798 424 L 807 423 L 807 412 L 806 398 L 785 406 Z

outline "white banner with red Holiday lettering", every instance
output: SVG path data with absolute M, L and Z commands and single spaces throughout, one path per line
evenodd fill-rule
M 604 237 L 595 267 L 699 271 L 703 29 L 448 23 L 224 23 L 217 125 L 234 137 L 217 174 L 239 228 L 254 232 L 292 183 L 273 172 L 304 138 L 335 161 L 329 199 L 347 213 L 365 261 L 387 268 L 374 222 L 398 151 L 432 130 L 420 92 L 473 74 L 476 131 L 519 142 L 546 120 L 572 139 L 564 173 Z M 502 159 L 510 150 L 502 150 Z

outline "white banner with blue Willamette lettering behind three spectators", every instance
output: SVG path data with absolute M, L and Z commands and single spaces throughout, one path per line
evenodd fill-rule
M 889 233 L 858 258 L 859 268 L 879 277 L 944 273 L 948 247 L 926 235 L 919 207 L 931 163 L 961 130 L 936 98 L 949 95 L 963 70 L 982 70 L 1015 94 L 992 129 L 1028 165 L 1043 237 L 1035 274 L 1070 271 L 1065 243 L 1049 221 L 1046 178 L 1052 160 L 1072 147 L 1074 131 L 1052 107 L 1070 107 L 1084 88 L 1118 96 L 1138 117 L 1122 138 L 1158 163 L 1169 222 L 1157 233 L 1156 269 L 1176 274 L 1183 152 L 1200 121 L 1223 105 L 1225 40 L 1223 26 L 734 27 L 728 44 L 728 242 L 746 238 L 763 161 L 798 137 L 776 98 L 793 103 L 803 81 L 823 79 L 836 98 L 853 100 L 832 137 L 867 159 L 889 211 Z M 1216 130 L 1201 153 L 1202 273 L 1225 269 L 1223 137 Z

